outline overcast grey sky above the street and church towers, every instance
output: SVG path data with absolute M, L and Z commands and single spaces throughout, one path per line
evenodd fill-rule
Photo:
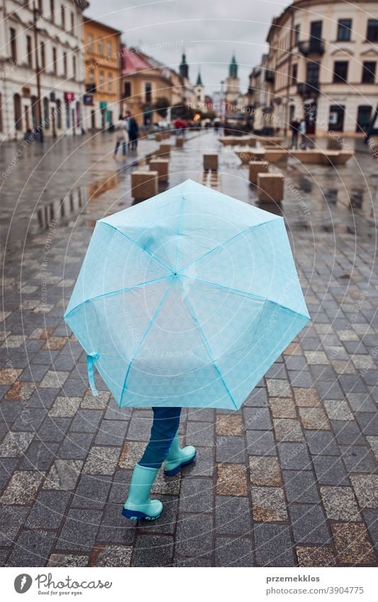
M 189 77 L 199 68 L 206 92 L 220 89 L 235 52 L 240 87 L 266 51 L 272 17 L 290 0 L 89 0 L 86 15 L 122 30 L 123 42 L 138 45 L 170 67 L 187 53 Z

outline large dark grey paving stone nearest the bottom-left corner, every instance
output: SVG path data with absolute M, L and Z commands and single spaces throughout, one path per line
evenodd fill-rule
M 44 567 L 55 540 L 53 531 L 23 529 L 9 554 L 7 567 Z

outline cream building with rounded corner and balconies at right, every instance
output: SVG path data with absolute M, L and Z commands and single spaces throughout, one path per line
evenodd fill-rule
M 294 1 L 267 42 L 262 89 L 250 99 L 271 111 L 274 129 L 303 117 L 310 134 L 367 128 L 378 103 L 377 0 Z

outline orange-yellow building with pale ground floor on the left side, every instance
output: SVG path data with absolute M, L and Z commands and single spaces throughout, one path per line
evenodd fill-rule
M 118 120 L 121 33 L 84 18 L 84 129 L 105 130 Z

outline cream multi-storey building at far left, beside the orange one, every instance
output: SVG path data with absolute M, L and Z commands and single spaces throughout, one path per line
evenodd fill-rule
M 81 0 L 1 2 L 1 140 L 35 129 L 45 136 L 82 133 L 87 6 Z

